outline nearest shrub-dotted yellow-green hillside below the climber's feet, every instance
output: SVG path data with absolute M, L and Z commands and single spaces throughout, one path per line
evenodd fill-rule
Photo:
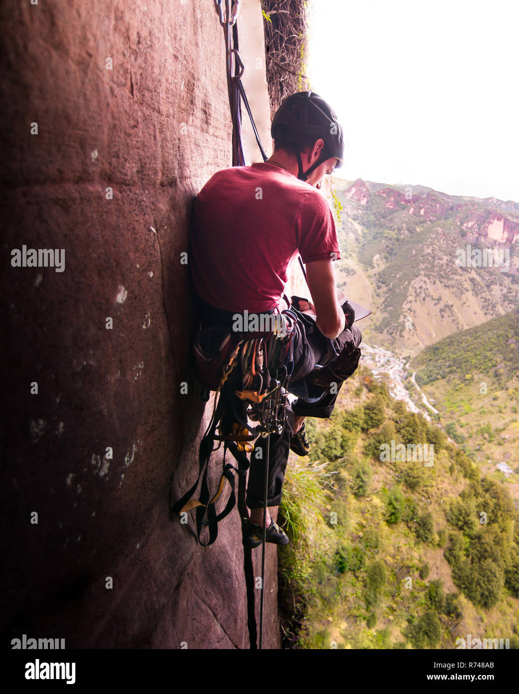
M 519 648 L 519 511 L 506 485 L 366 375 L 344 384 L 330 420 L 308 421 L 310 459 L 289 462 L 285 647 L 451 649 L 471 634 Z M 381 459 L 391 441 L 432 444 L 432 457 Z

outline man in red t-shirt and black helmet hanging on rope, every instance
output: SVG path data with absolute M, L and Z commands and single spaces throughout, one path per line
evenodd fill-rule
M 271 124 L 271 158 L 217 171 L 194 201 L 191 271 L 198 296 L 198 321 L 231 323 L 247 310 L 300 313 L 294 332 L 294 369 L 281 434 L 271 434 L 269 493 L 264 505 L 263 459 L 251 462 L 246 503 L 251 547 L 289 539 L 269 509 L 282 498 L 289 449 L 308 455 L 305 418 L 327 418 L 343 380 L 357 369 L 361 333 L 354 310 L 338 298 L 334 262 L 341 259 L 330 204 L 319 189 L 343 162 L 343 130 L 324 99 L 314 92 L 287 96 Z M 285 291 L 287 271 L 300 255 L 311 298 Z M 340 294 L 339 294 L 340 296 Z M 265 440 L 258 439 L 257 446 Z

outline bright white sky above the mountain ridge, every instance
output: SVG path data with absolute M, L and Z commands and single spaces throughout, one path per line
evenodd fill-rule
M 517 0 L 311 0 L 308 74 L 338 176 L 519 202 Z

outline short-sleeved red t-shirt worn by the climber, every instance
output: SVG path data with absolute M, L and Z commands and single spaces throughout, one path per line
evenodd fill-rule
M 289 171 L 268 163 L 222 169 L 194 201 L 189 264 L 210 305 L 275 308 L 298 253 L 304 263 L 341 258 L 330 204 Z

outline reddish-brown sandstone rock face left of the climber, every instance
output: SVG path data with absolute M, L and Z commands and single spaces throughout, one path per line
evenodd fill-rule
M 0 12 L 3 632 L 249 648 L 237 510 L 211 548 L 169 513 L 212 405 L 189 358 L 182 253 L 194 196 L 230 166 L 213 3 Z M 280 647 L 276 568 L 268 545 L 266 648 Z

